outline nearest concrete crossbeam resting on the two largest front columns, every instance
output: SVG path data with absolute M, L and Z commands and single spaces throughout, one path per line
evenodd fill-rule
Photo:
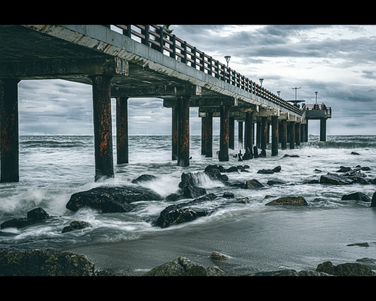
M 128 61 L 118 57 L 40 59 L 0 63 L 0 78 L 57 79 L 95 74 L 128 75 Z M 119 95 L 125 96 L 125 95 Z

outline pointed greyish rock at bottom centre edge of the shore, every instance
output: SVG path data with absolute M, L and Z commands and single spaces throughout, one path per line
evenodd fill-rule
M 188 258 L 179 257 L 157 266 L 143 276 L 208 276 L 208 271 Z

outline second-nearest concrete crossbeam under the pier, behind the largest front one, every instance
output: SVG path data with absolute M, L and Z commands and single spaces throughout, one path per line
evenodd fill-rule
M 201 96 L 201 87 L 197 85 L 169 85 L 169 86 L 134 86 L 112 87 L 111 97 L 176 97 Z M 176 101 L 175 101 L 176 102 Z

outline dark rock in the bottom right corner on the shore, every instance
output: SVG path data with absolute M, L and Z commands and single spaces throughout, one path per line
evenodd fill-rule
M 374 276 L 374 272 L 361 263 L 343 263 L 341 265 L 334 266 L 331 261 L 320 263 L 316 272 L 324 272 L 335 276 Z

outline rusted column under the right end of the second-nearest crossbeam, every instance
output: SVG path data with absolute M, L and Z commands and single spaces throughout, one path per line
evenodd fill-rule
M 189 99 L 177 96 L 177 166 L 189 166 Z

